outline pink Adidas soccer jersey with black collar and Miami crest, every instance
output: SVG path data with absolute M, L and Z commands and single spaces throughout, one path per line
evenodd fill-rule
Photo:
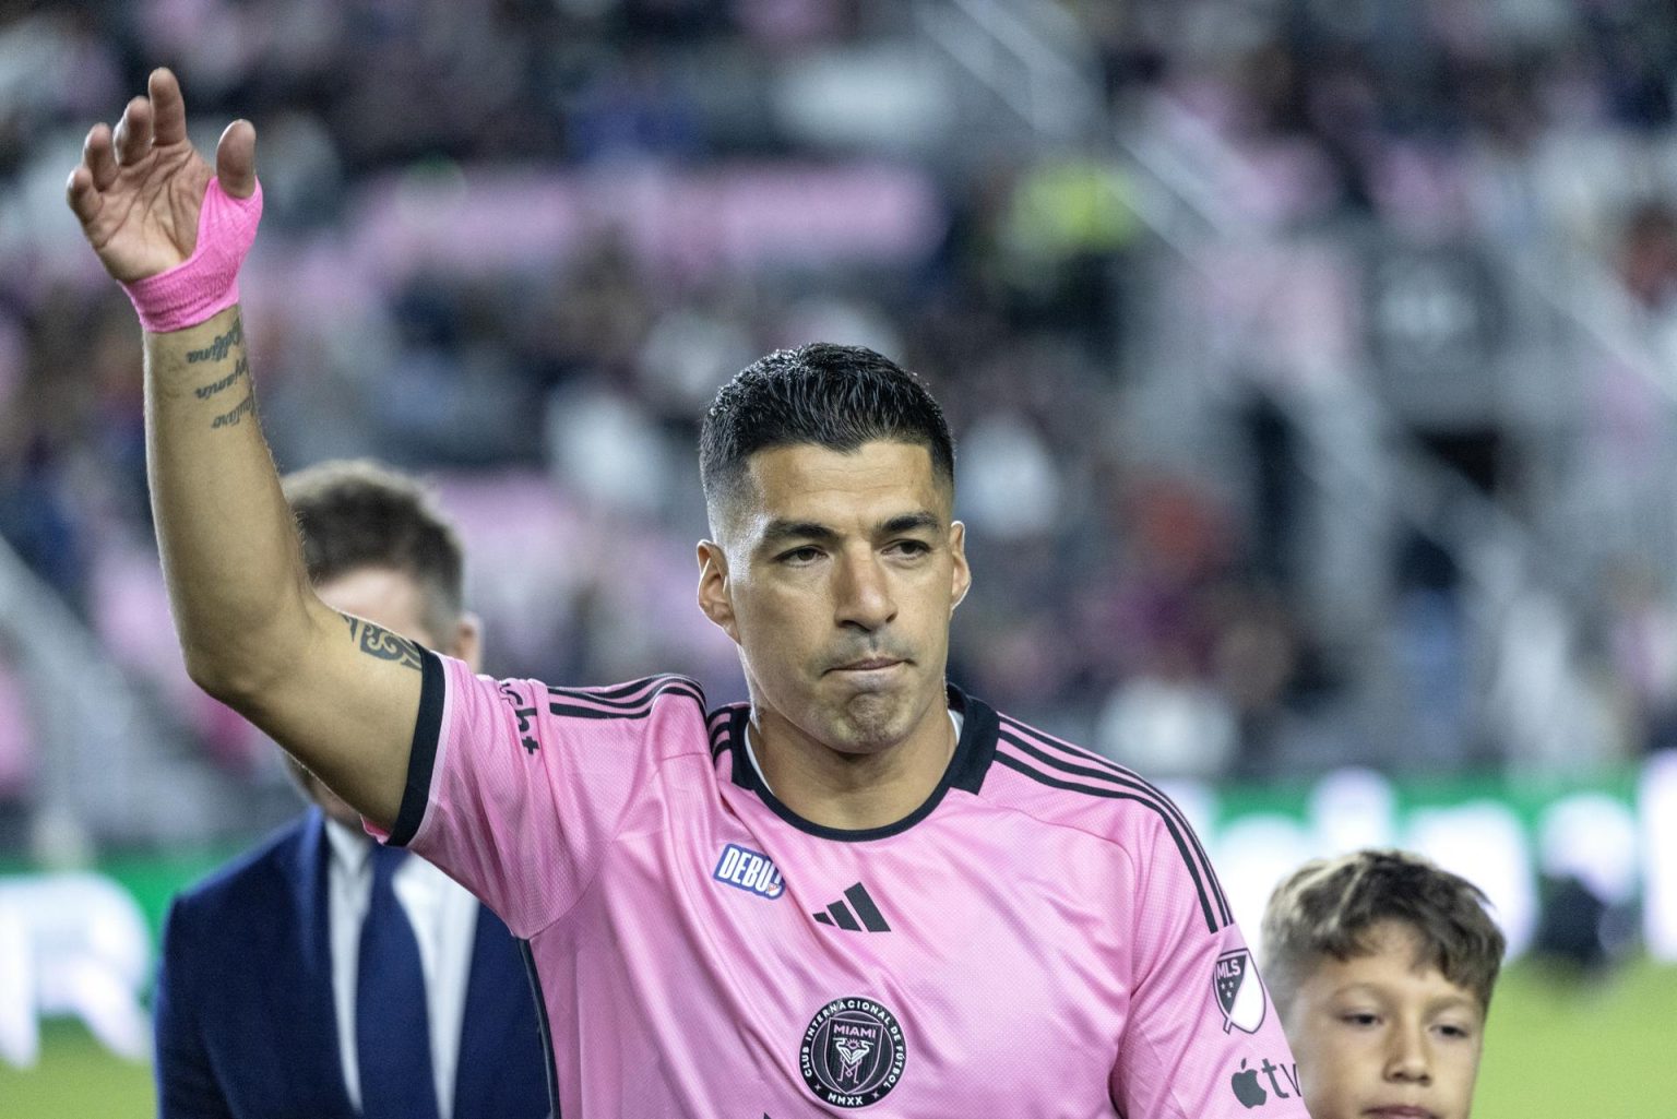
M 389 841 L 527 941 L 565 1119 L 1308 1119 L 1199 841 L 1129 770 L 951 688 L 942 782 L 845 832 L 693 681 L 423 671 Z

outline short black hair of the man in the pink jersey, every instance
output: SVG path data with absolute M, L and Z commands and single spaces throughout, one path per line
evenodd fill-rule
M 713 517 L 758 451 L 813 443 L 854 451 L 874 440 L 924 446 L 954 488 L 954 440 L 926 384 L 865 346 L 810 342 L 756 359 L 716 393 L 699 431 L 699 481 Z

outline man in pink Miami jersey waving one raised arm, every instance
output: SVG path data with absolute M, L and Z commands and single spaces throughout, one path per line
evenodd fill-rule
M 912 374 L 805 346 L 706 416 L 699 607 L 750 705 L 493 681 L 309 589 L 233 287 L 252 126 L 211 173 L 158 70 L 69 200 L 146 325 L 188 668 L 525 941 L 567 1119 L 1305 1116 L 1177 809 L 944 681 L 971 575 Z

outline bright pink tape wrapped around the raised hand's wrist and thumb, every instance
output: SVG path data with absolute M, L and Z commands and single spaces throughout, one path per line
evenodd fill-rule
M 198 211 L 198 247 L 168 272 L 124 284 L 139 325 L 151 334 L 195 327 L 238 302 L 238 265 L 257 240 L 262 183 L 250 198 L 233 198 L 210 176 Z

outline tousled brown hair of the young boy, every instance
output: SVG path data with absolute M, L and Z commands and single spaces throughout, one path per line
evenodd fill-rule
M 1323 956 L 1368 955 L 1370 933 L 1385 921 L 1414 931 L 1420 960 L 1489 1010 L 1508 941 L 1484 891 L 1405 851 L 1357 851 L 1306 862 L 1269 896 L 1263 970 L 1281 1015 Z

